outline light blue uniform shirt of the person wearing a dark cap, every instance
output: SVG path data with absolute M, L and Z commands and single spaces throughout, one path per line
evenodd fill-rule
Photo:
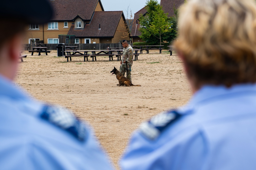
M 31 99 L 0 76 L 0 169 L 113 167 L 87 125 L 65 109 Z

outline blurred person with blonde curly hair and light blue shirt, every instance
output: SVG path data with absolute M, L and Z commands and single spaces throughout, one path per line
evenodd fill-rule
M 193 96 L 132 136 L 123 170 L 256 167 L 256 4 L 190 0 L 175 45 Z

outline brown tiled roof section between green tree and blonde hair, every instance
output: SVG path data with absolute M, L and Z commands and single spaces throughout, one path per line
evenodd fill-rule
M 168 17 L 175 16 L 173 8 L 178 9 L 184 4 L 184 0 L 161 0 L 160 5 L 163 6 L 165 13 L 168 13 Z

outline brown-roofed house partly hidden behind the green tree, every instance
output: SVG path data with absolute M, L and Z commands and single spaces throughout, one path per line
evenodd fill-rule
M 175 16 L 174 7 L 178 9 L 182 4 L 184 4 L 184 0 L 161 0 L 160 5 L 162 5 L 164 12 L 168 13 L 168 17 Z M 141 35 L 139 18 L 140 15 L 145 15 L 147 12 L 146 8 L 143 7 L 138 12 L 134 14 L 134 20 L 132 24 L 131 38 L 132 42 L 143 42 L 139 37 Z

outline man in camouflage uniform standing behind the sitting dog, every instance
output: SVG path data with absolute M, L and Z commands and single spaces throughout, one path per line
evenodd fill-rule
M 127 43 L 126 40 L 122 41 L 122 45 L 124 49 L 123 49 L 122 61 L 120 62 L 121 64 L 120 73 L 124 75 L 126 71 L 126 78 L 132 81 L 131 69 L 132 69 L 132 63 L 133 63 L 133 48 Z M 126 69 L 126 64 L 127 64 L 127 69 Z M 124 86 L 124 84 L 121 84 L 121 85 Z

